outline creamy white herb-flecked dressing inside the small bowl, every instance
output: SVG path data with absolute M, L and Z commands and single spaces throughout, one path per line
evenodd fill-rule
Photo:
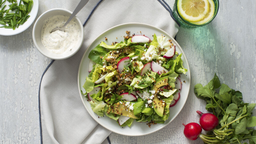
M 62 27 L 68 20 L 68 16 L 56 15 L 45 20 L 41 30 L 41 42 L 47 50 L 55 54 L 68 54 L 76 47 L 81 34 L 79 25 L 73 19 L 65 28 L 65 32 L 56 30 L 56 27 Z

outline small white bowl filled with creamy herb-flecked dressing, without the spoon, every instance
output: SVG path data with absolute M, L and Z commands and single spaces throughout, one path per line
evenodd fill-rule
M 65 32 L 56 30 L 62 27 L 71 11 L 62 8 L 50 9 L 38 17 L 33 27 L 33 41 L 38 51 L 51 59 L 66 59 L 74 55 L 82 46 L 84 30 L 78 17 L 74 17 L 66 26 Z

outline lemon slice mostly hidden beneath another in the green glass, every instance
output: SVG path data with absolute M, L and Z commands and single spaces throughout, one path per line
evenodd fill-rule
M 202 20 L 199 20 L 198 22 L 190 22 L 190 23 L 196 24 L 196 25 L 202 25 L 207 23 L 213 17 L 214 11 L 215 11 L 215 5 L 213 0 L 208 0 L 208 1 L 209 1 L 209 11 L 205 15 L 205 17 Z

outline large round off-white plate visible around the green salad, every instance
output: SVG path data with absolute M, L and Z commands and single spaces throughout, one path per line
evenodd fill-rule
M 169 37 L 172 42 L 176 45 L 176 51 L 180 54 L 182 53 L 182 60 L 183 60 L 183 65 L 185 68 L 188 69 L 188 72 L 186 75 L 182 74 L 180 79 L 182 81 L 186 81 L 186 83 L 182 83 L 182 90 L 180 92 L 180 99 L 177 102 L 177 104 L 174 107 L 169 108 L 170 109 L 170 115 L 169 118 L 165 121 L 164 124 L 156 124 L 156 125 L 151 125 L 151 128 L 149 128 L 146 125 L 146 122 L 136 122 L 134 120 L 133 124 L 131 125 L 131 127 L 125 126 L 125 127 L 121 127 L 119 126 L 118 123 L 116 123 L 115 120 L 110 119 L 109 117 L 105 116 L 105 117 L 101 117 L 98 118 L 98 115 L 95 114 L 92 109 L 91 106 L 89 104 L 89 101 L 87 101 L 87 98 L 85 98 L 84 95 L 81 94 L 80 90 L 82 90 L 83 92 L 85 92 L 85 90 L 83 89 L 83 84 L 86 81 L 86 77 L 89 75 L 88 72 L 88 67 L 89 67 L 89 58 L 88 55 L 90 53 L 90 51 L 96 47 L 98 44 L 100 44 L 100 42 L 105 40 L 105 37 L 108 38 L 108 41 L 106 42 L 107 44 L 111 45 L 112 42 L 121 42 L 121 40 L 123 40 L 123 36 L 126 35 L 125 31 L 129 30 L 131 32 L 131 34 L 135 34 L 135 35 L 145 35 L 151 39 L 153 39 L 152 35 L 155 33 L 157 36 L 167 36 Z M 141 33 L 140 33 L 141 32 Z M 116 39 L 118 38 L 118 40 Z M 121 25 L 117 25 L 114 26 L 108 30 L 106 30 L 105 32 L 103 32 L 101 35 L 99 35 L 87 48 L 86 52 L 84 53 L 81 62 L 80 62 L 80 66 L 79 66 L 79 70 L 78 70 L 78 88 L 79 88 L 79 93 L 82 99 L 82 102 L 84 104 L 84 107 L 87 109 L 87 111 L 89 112 L 89 114 L 92 116 L 92 118 L 97 121 L 100 125 L 102 125 L 103 127 L 105 127 L 106 129 L 109 129 L 115 133 L 119 133 L 121 135 L 127 135 L 127 136 L 141 136 L 141 135 L 147 135 L 149 133 L 155 132 L 157 130 L 162 129 L 163 127 L 167 126 L 168 124 L 172 124 L 171 122 L 173 121 L 173 119 L 179 114 L 179 112 L 182 110 L 183 106 L 185 105 L 185 102 L 187 100 L 188 97 L 188 92 L 189 92 L 189 87 L 190 87 L 190 70 L 189 70 L 189 66 L 188 66 L 188 61 L 187 58 L 182 50 L 182 48 L 179 46 L 179 44 L 176 42 L 176 40 L 174 40 L 173 37 L 171 37 L 168 33 L 166 33 L 165 31 L 163 31 L 162 29 L 153 27 L 151 25 L 147 25 L 147 24 L 141 24 L 141 23 L 127 23 L 127 24 L 121 24 Z

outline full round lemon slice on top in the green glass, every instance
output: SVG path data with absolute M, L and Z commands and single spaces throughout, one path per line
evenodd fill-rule
M 189 22 L 198 22 L 208 13 L 209 2 L 208 0 L 178 0 L 177 8 L 182 18 Z

